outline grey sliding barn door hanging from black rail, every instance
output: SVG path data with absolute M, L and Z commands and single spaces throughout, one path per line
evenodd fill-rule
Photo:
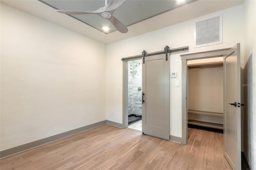
M 170 139 L 170 59 L 166 55 L 145 57 L 142 64 L 142 132 Z

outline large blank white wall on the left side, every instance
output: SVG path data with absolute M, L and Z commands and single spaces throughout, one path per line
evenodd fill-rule
M 106 45 L 1 4 L 1 150 L 106 120 Z

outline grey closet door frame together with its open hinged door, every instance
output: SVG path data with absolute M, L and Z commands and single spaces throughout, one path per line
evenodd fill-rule
M 224 156 L 232 169 L 241 169 L 241 106 L 243 104 L 240 103 L 240 43 L 237 43 L 232 48 L 190 53 L 180 56 L 182 59 L 182 144 L 187 144 L 188 142 L 188 61 L 223 57 Z

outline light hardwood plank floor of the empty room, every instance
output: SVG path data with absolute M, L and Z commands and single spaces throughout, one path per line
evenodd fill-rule
M 178 144 L 131 128 L 102 125 L 0 160 L 0 169 L 231 170 L 223 134 L 188 128 Z

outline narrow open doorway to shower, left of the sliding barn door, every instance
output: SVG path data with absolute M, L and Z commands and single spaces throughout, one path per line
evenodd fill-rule
M 128 127 L 142 130 L 142 59 L 128 61 Z

